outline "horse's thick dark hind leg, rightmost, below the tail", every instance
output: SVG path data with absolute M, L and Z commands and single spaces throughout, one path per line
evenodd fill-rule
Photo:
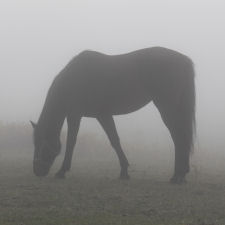
M 157 106 L 163 122 L 167 126 L 175 146 L 175 168 L 174 175 L 171 178 L 172 183 L 182 183 L 185 181 L 185 175 L 189 172 L 190 143 L 188 142 L 185 128 L 185 120 L 176 107 L 169 103 L 159 104 Z

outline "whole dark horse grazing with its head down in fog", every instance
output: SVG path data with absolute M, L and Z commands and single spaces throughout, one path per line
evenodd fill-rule
M 76 55 L 53 80 L 34 128 L 33 172 L 46 176 L 60 153 L 60 132 L 67 120 L 66 151 L 57 178 L 71 168 L 82 117 L 96 118 L 120 163 L 120 178 L 129 179 L 129 162 L 113 116 L 153 102 L 175 147 L 174 174 L 182 183 L 189 172 L 195 133 L 195 82 L 192 60 L 177 51 L 151 47 L 121 55 L 86 50 Z

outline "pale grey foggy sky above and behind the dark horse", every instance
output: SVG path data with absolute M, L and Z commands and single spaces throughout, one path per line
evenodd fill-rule
M 0 120 L 37 121 L 53 78 L 83 50 L 163 46 L 193 60 L 199 130 L 224 143 L 224 23 L 223 0 L 0 0 Z

